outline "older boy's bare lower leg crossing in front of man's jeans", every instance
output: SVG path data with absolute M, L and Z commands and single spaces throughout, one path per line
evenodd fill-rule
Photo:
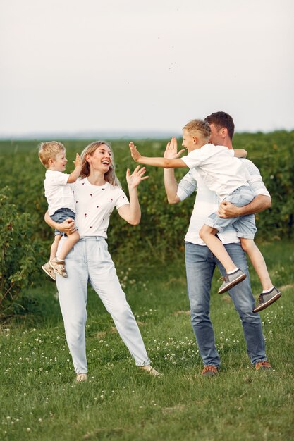
M 221 241 L 216 237 L 216 228 L 209 227 L 208 225 L 203 225 L 199 235 L 201 239 L 207 244 L 210 251 L 216 256 L 221 262 L 226 272 L 233 271 L 236 269 L 235 263 L 233 263 L 231 257 L 228 255 L 226 248 L 223 247 Z

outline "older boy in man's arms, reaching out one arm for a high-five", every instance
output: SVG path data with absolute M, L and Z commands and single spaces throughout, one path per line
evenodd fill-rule
M 236 206 L 249 204 L 255 197 L 250 189 L 252 178 L 243 168 L 242 163 L 234 158 L 234 156 L 246 156 L 247 152 L 243 149 L 230 150 L 223 146 L 208 144 L 210 133 L 210 126 L 206 121 L 192 120 L 186 124 L 183 128 L 183 147 L 188 150 L 188 155 L 181 159 L 141 156 L 133 142 L 129 144 L 130 151 L 136 162 L 145 165 L 163 168 L 197 167 L 209 190 L 216 192 L 220 201 L 230 201 Z M 171 142 L 175 141 L 174 138 L 171 140 Z M 241 245 L 250 257 L 257 275 L 259 275 L 263 291 L 272 294 L 268 302 L 258 305 L 253 310 L 254 312 L 261 311 L 281 297 L 281 292 L 272 285 L 264 258 L 253 241 L 256 232 L 254 215 L 223 219 L 219 218 L 217 213 L 212 213 L 200 230 L 201 239 L 226 270 L 223 284 L 219 288 L 219 294 L 228 291 L 246 278 L 245 273 L 236 268 L 225 247 L 216 237 L 216 233 L 222 232 L 228 225 L 233 225 L 233 228 L 237 231 Z

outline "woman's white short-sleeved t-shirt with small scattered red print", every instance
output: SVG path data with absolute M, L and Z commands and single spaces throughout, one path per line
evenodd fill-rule
M 120 187 L 106 182 L 104 185 L 92 185 L 87 178 L 71 185 L 75 201 L 75 228 L 80 237 L 107 237 L 109 217 L 114 208 L 130 204 Z

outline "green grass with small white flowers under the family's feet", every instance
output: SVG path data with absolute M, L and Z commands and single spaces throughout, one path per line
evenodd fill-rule
M 263 244 L 283 295 L 262 311 L 267 356 L 274 370 L 250 366 L 240 320 L 228 296 L 212 289 L 212 321 L 221 354 L 216 378 L 202 378 L 192 333 L 183 256 L 139 263 L 113 256 L 140 325 L 151 378 L 135 367 L 97 296 L 89 290 L 87 383 L 74 382 L 55 297 L 44 276 L 30 292 L 35 315 L 1 330 L 3 440 L 290 440 L 293 437 L 293 259 L 290 243 Z M 143 263 L 144 262 L 144 263 Z M 128 269 L 128 265 L 130 269 Z M 252 287 L 259 282 L 252 272 Z

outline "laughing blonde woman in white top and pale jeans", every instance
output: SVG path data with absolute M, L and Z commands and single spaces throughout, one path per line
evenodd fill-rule
M 140 223 L 137 185 L 148 178 L 143 176 L 145 168 L 138 166 L 132 175 L 127 170 L 129 202 L 116 178 L 109 144 L 92 142 L 82 151 L 81 158 L 81 179 L 73 184 L 75 223 L 68 219 L 58 224 L 59 230 L 65 233 L 73 232 L 76 228 L 80 241 L 66 257 L 68 278 L 56 275 L 66 340 L 73 358 L 76 380 L 87 380 L 85 322 L 88 281 L 102 299 L 106 310 L 111 313 L 118 333 L 135 359 L 135 364 L 157 376 L 159 373 L 150 366 L 140 330 L 125 299 L 105 240 L 109 216 L 114 207 L 119 216 L 131 225 Z M 47 213 L 45 221 L 56 228 L 56 223 Z M 61 239 L 60 246 L 64 240 L 66 237 Z

